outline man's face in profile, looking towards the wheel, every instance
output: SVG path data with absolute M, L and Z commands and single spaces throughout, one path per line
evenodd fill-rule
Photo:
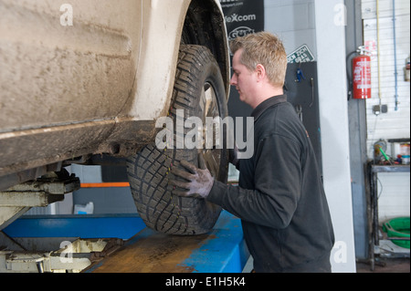
M 248 105 L 253 103 L 257 73 L 251 72 L 241 64 L 243 49 L 238 49 L 233 57 L 233 77 L 230 85 L 237 88 L 239 99 Z

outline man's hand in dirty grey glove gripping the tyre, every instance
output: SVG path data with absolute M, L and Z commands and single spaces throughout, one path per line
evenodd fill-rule
M 170 179 L 170 184 L 183 189 L 183 191 L 174 190 L 173 193 L 183 197 L 205 199 L 210 193 L 211 188 L 213 188 L 214 178 L 205 167 L 203 154 L 198 154 L 198 166 L 200 169 L 188 161 L 181 161 L 181 165 L 184 167 L 184 170 L 174 167 L 172 173 L 175 177 L 183 178 L 184 182 Z

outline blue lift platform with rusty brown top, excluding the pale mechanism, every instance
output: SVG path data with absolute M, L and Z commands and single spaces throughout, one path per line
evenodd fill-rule
M 85 273 L 241 273 L 249 257 L 241 221 L 225 211 L 212 232 L 195 236 L 159 234 L 134 214 L 23 216 L 3 232 L 11 238 L 124 241 Z

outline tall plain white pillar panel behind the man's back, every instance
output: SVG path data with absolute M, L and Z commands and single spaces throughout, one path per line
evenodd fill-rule
M 342 81 L 346 78 L 345 27 L 335 25 L 334 19 L 335 7 L 342 4 L 342 0 L 315 1 L 322 169 L 336 241 L 332 271 L 337 273 L 355 272 L 347 88 Z

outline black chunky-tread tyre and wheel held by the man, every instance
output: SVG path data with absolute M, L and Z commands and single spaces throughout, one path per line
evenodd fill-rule
M 227 116 L 224 84 L 215 57 L 207 48 L 182 45 L 169 112 L 174 127 L 177 109 L 184 109 L 184 120 L 193 116 L 203 121 L 205 116 L 220 116 L 224 119 Z M 211 101 L 205 102 L 205 99 Z M 200 104 L 201 101 L 203 104 Z M 184 135 L 190 130 L 185 129 Z M 173 175 L 170 169 L 181 167 L 182 160 L 198 165 L 199 151 L 176 149 L 178 132 L 175 132 L 174 129 L 174 148 L 159 150 L 155 143 L 149 144 L 128 160 L 132 195 L 142 220 L 153 230 L 163 234 L 205 234 L 214 227 L 221 208 L 204 199 L 179 197 L 173 193 L 173 186 L 168 183 Z M 203 150 L 203 153 L 207 168 L 216 180 L 227 182 L 228 151 L 226 134 L 223 136 L 223 149 L 215 147 Z

